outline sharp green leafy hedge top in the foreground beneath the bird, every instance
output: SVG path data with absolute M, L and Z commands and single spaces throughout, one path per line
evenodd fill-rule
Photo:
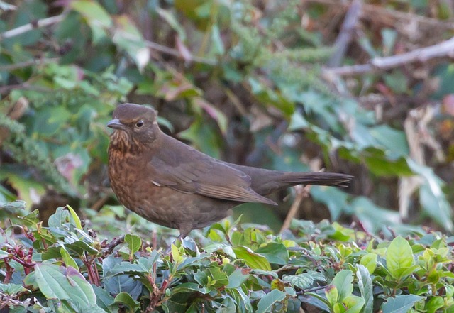
M 338 225 L 294 221 L 276 236 L 229 220 L 156 250 L 139 236 L 99 241 L 74 210 L 0 243 L 0 307 L 10 312 L 451 312 L 453 251 L 439 233 L 388 241 Z M 315 230 L 315 232 L 314 232 Z M 309 235 L 304 235 L 308 234 Z

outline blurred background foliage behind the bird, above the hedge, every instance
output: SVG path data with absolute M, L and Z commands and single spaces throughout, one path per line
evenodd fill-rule
M 7 2 L 0 203 L 24 199 L 42 219 L 72 204 L 94 224 L 133 225 L 106 175 L 105 124 L 128 101 L 154 106 L 165 132 L 228 162 L 355 176 L 346 190 L 311 187 L 299 218 L 453 231 L 454 48 L 405 60 L 453 36 L 452 2 Z M 393 55 L 404 62 L 372 62 Z M 236 214 L 279 229 L 287 193 L 275 195 L 279 208 Z

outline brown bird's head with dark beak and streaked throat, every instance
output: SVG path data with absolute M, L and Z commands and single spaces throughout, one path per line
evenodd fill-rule
M 152 143 L 160 131 L 157 111 L 147 106 L 125 103 L 116 107 L 107 127 L 114 128 L 111 143 L 130 150 Z M 126 145 L 126 146 L 125 146 Z

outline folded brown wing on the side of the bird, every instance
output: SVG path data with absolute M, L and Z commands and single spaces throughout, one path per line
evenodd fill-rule
M 250 187 L 245 172 L 187 145 L 183 147 L 183 143 L 176 145 L 160 149 L 149 160 L 146 170 L 155 185 L 218 199 L 275 204 Z

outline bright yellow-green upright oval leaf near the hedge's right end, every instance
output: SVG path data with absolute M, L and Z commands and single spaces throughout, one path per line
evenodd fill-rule
M 413 251 L 404 238 L 398 236 L 389 244 L 386 251 L 386 264 L 392 278 L 400 280 L 404 277 L 402 269 L 413 265 Z

